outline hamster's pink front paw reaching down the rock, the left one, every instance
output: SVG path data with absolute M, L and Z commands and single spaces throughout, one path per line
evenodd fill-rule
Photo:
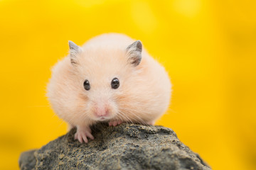
M 78 140 L 80 143 L 82 143 L 83 141 L 87 143 L 88 142 L 87 137 L 89 137 L 91 140 L 94 139 L 94 137 L 92 136 L 92 130 L 90 129 L 90 127 L 78 126 L 77 132 L 75 133 L 75 140 Z

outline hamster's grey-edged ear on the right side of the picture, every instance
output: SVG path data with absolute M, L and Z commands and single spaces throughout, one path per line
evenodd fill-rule
M 137 40 L 127 47 L 128 62 L 134 67 L 139 65 L 142 60 L 142 42 Z

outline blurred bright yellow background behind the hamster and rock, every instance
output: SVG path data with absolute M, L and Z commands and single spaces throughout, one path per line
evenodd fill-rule
M 157 125 L 213 169 L 256 169 L 256 1 L 0 0 L 0 169 L 65 134 L 46 98 L 50 68 L 101 33 L 125 33 L 173 86 Z

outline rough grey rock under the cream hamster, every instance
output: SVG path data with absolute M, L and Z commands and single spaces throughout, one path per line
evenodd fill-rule
M 23 152 L 21 169 L 198 169 L 208 170 L 198 154 L 173 130 L 161 126 L 97 125 L 95 140 L 80 144 L 75 129 L 38 150 Z

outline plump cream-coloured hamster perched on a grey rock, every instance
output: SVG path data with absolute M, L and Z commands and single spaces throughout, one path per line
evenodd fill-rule
M 90 126 L 107 122 L 154 125 L 169 107 L 171 81 L 140 40 L 109 33 L 70 52 L 52 69 L 47 95 L 55 113 L 77 128 L 75 140 L 94 137 Z

